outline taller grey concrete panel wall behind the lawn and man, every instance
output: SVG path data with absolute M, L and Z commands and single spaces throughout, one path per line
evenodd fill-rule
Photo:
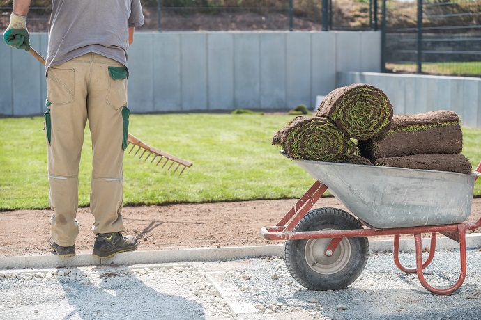
M 32 33 L 43 56 L 47 34 Z M 314 108 L 337 72 L 379 72 L 380 31 L 162 32 L 129 48 L 132 113 Z M 45 111 L 45 70 L 0 44 L 0 115 Z

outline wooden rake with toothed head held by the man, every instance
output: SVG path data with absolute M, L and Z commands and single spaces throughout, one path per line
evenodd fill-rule
M 40 63 L 45 65 L 46 63 L 45 58 L 43 58 L 43 56 L 40 56 L 40 54 L 38 54 L 38 52 L 35 51 L 32 47 L 30 47 L 29 52 L 38 61 L 40 61 Z M 189 161 L 185 161 L 184 159 L 174 157 L 173 155 L 168 154 L 167 152 L 163 152 L 161 150 L 156 149 L 155 147 L 151 147 L 146 143 L 143 143 L 142 141 L 140 141 L 135 136 L 132 136 L 132 134 L 130 133 L 128 134 L 127 142 L 128 142 L 127 147 L 129 147 L 129 145 L 132 145 L 132 147 L 130 148 L 130 151 L 128 152 L 129 154 L 135 149 L 135 147 L 138 147 L 138 149 L 134 153 L 134 156 L 137 156 L 137 154 L 139 154 L 140 152 L 139 159 L 142 159 L 142 157 L 146 155 L 146 157 L 144 158 L 144 161 L 147 161 L 147 159 L 151 158 L 151 163 L 154 163 L 155 161 L 156 166 L 162 163 L 162 168 L 167 167 L 167 170 L 170 170 L 171 168 L 175 167 L 174 173 L 178 170 L 178 168 L 182 166 L 183 168 L 181 168 L 181 173 L 179 173 L 179 175 L 182 175 L 185 168 L 189 168 L 192 166 L 192 163 L 190 163 Z M 125 148 L 125 150 L 127 150 L 127 148 Z M 169 163 L 169 166 L 167 166 L 167 163 Z

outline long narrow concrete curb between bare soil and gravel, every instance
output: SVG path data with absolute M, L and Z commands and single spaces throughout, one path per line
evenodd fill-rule
M 429 239 L 422 239 L 422 246 L 429 247 Z M 481 248 L 481 234 L 467 234 L 466 248 Z M 392 239 L 369 241 L 369 249 L 374 252 L 391 252 Z M 459 249 L 459 243 L 446 237 L 436 241 L 436 250 Z M 413 251 L 413 239 L 401 239 L 399 250 Z M 6 269 L 42 269 L 63 266 L 99 266 L 109 264 L 160 264 L 174 262 L 222 261 L 245 259 L 248 257 L 280 256 L 283 245 L 245 246 L 225 248 L 188 248 L 181 250 L 133 251 L 119 253 L 111 259 L 97 259 L 90 254 L 79 254 L 70 258 L 59 258 L 56 255 L 25 255 L 0 257 L 0 270 Z

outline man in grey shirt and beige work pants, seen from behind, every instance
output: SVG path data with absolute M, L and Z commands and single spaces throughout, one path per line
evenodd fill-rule
M 14 0 L 3 39 L 30 50 L 30 0 Z M 90 209 L 93 256 L 135 250 L 122 220 L 123 152 L 127 146 L 127 48 L 144 24 L 140 0 L 52 0 L 46 59 L 45 133 L 49 179 L 49 244 L 59 257 L 75 255 L 79 234 L 79 163 L 87 120 L 92 137 Z

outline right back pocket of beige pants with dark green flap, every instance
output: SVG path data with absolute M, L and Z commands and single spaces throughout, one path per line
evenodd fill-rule
M 115 110 L 127 104 L 127 67 L 107 67 L 109 71 L 109 90 L 107 91 L 107 104 Z

